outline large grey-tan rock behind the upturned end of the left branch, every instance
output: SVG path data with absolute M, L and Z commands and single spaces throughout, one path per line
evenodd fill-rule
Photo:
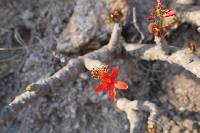
M 92 41 L 106 41 L 112 29 L 106 20 L 109 10 L 114 9 L 122 9 L 125 17 L 128 9 L 126 1 L 78 0 L 67 27 L 57 40 L 57 50 L 76 52 L 76 50 L 91 44 Z

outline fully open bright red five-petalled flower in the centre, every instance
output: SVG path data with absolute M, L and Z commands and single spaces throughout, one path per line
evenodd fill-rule
M 128 89 L 128 85 L 123 81 L 117 80 L 117 76 L 119 75 L 118 67 L 114 67 L 110 75 L 108 74 L 108 71 L 109 67 L 106 67 L 106 69 L 99 72 L 99 77 L 102 82 L 95 91 L 99 93 L 107 90 L 110 100 L 113 101 L 116 97 L 116 88 L 126 90 Z

